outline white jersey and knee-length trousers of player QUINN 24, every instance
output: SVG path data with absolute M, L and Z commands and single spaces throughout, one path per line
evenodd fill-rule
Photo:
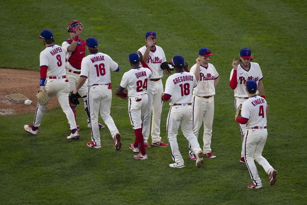
M 120 87 L 128 91 L 128 111 L 134 130 L 142 128 L 143 116 L 148 104 L 147 83 L 152 72 L 148 68 L 133 68 L 124 73 Z

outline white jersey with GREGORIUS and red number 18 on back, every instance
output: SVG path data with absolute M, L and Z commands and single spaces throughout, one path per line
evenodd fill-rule
M 169 105 L 187 104 L 192 102 L 192 90 L 197 85 L 194 74 L 188 72 L 170 75 L 165 84 L 165 94 L 169 94 Z

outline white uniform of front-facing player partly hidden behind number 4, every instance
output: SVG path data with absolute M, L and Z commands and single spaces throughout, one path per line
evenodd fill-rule
M 232 78 L 233 70 L 231 70 L 230 73 L 230 79 Z M 260 69 L 259 64 L 251 62 L 251 67 L 247 71 L 244 68 L 242 68 L 241 65 L 238 65 L 237 67 L 237 87 L 234 89 L 234 109 L 235 111 L 237 110 L 237 107 L 240 104 L 243 104 L 246 99 L 248 99 L 248 94 L 245 90 L 246 86 L 245 84 L 247 83 L 248 80 L 255 80 L 258 86 L 259 80 L 262 80 L 262 72 Z M 258 94 L 258 91 L 256 92 Z M 244 124 L 239 124 L 240 127 L 240 132 L 242 136 L 242 141 L 244 138 L 244 133 L 245 133 L 245 125 Z M 241 157 L 244 157 L 243 151 L 241 152 Z

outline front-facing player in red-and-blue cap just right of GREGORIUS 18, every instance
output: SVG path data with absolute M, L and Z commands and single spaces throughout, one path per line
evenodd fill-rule
M 211 153 L 212 124 L 214 117 L 214 94 L 215 87 L 220 80 L 215 67 L 209 63 L 211 51 L 209 48 L 201 48 L 196 64 L 190 69 L 194 73 L 198 85 L 193 90 L 192 108 L 193 108 L 193 133 L 199 136 L 199 131 L 204 124 L 204 156 L 215 158 Z M 189 159 L 196 160 L 191 145 L 189 145 Z

